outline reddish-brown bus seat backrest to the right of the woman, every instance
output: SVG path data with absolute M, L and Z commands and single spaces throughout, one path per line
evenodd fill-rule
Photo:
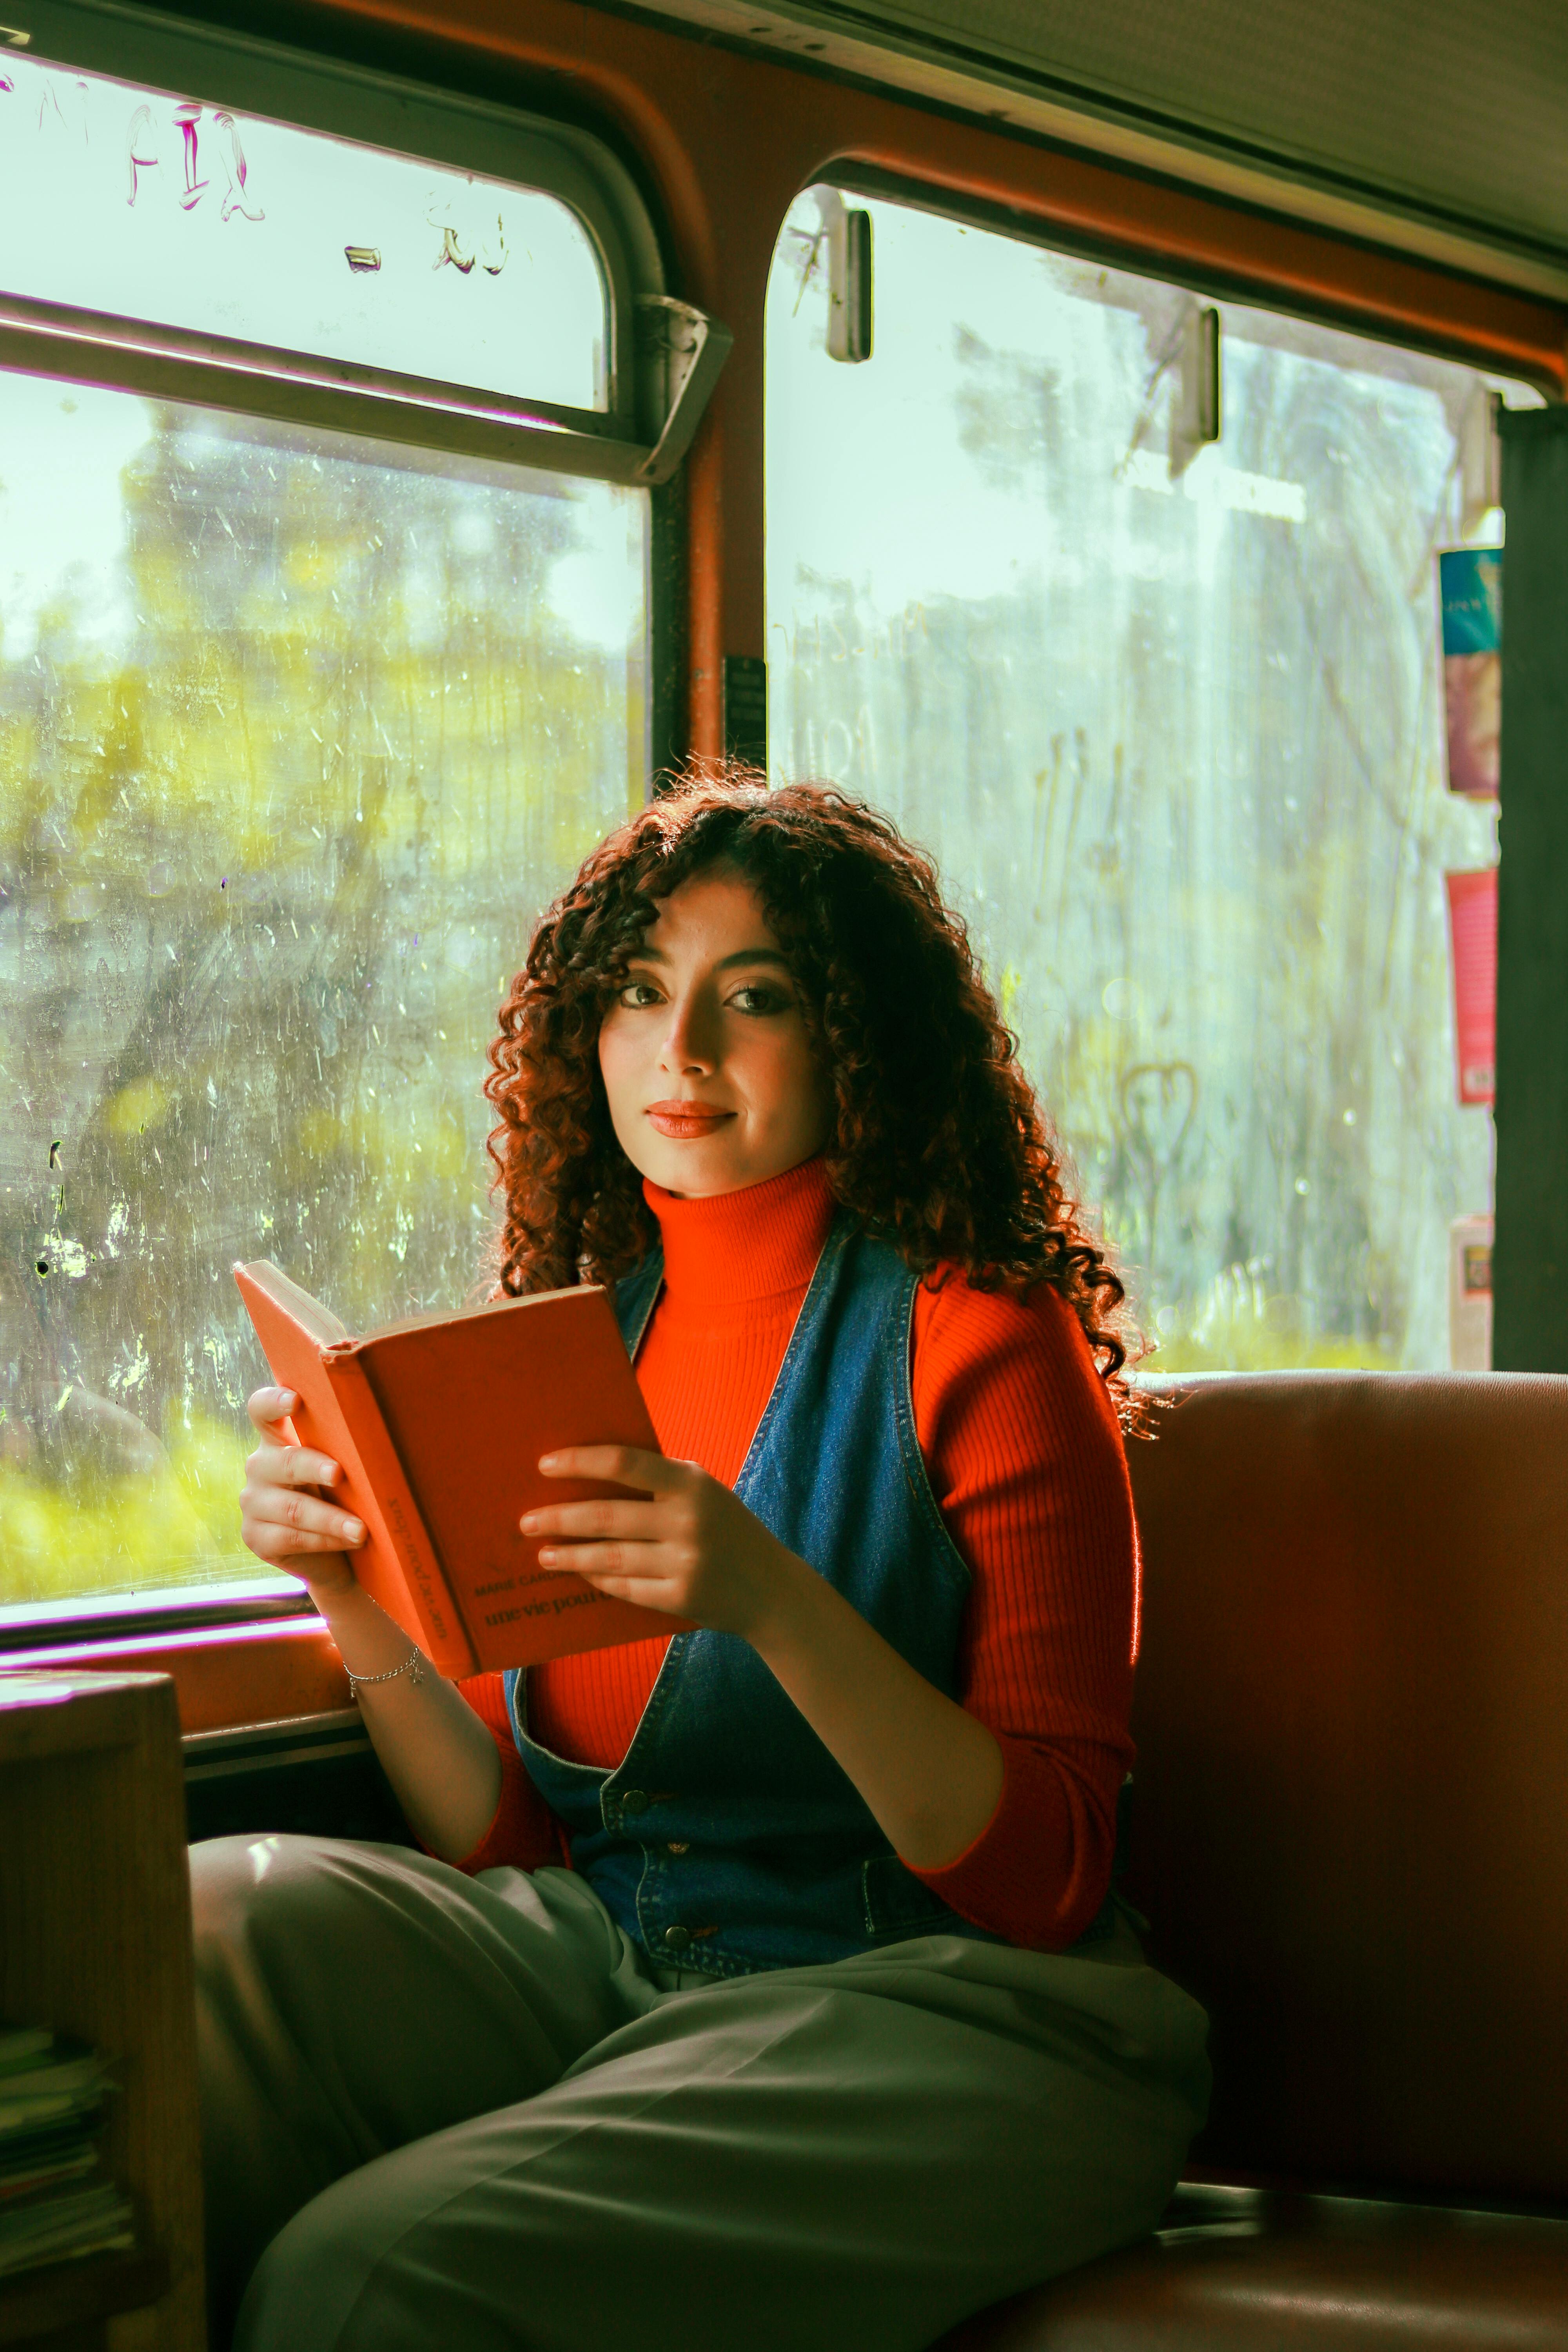
M 1568 2201 L 1568 1378 L 1164 1388 L 1128 1893 L 1192 2161 Z

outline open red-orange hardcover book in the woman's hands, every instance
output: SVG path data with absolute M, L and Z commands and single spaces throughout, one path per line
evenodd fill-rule
M 353 1338 L 266 1258 L 235 1265 L 280 1388 L 289 1435 L 343 1468 L 331 1501 L 369 1541 L 348 1557 L 364 1590 L 449 1677 L 679 1632 L 538 1566 L 524 1510 L 625 1489 L 550 1479 L 555 1446 L 658 1451 L 602 1289 L 541 1291 L 461 1315 L 416 1315 Z

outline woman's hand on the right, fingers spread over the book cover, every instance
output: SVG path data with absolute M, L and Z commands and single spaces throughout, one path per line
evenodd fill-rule
M 567 1446 L 538 1463 L 545 1477 L 590 1477 L 642 1489 L 625 1501 L 552 1503 L 522 1517 L 543 1536 L 541 1569 L 583 1576 L 599 1592 L 689 1618 L 759 1644 L 788 1613 L 811 1569 L 717 1477 L 639 1446 Z

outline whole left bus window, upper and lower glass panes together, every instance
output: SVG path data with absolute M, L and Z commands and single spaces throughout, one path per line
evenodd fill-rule
M 237 1541 L 266 1371 L 228 1268 L 275 1258 L 355 1327 L 475 1294 L 496 1000 L 649 760 L 639 452 L 616 454 L 614 414 L 599 440 L 567 416 L 632 393 L 609 233 L 477 181 L 501 230 L 447 219 L 435 165 L 378 155 L 362 181 L 367 151 L 221 108 L 188 139 L 193 103 L 31 59 L 5 106 L 71 202 L 108 148 L 118 176 L 113 205 L 87 188 L 96 247 L 9 212 L 38 266 L 0 372 L 0 1628 L 85 1595 L 299 1590 Z M 165 322 L 141 343 L 89 315 L 101 263 Z M 470 310 L 510 287 L 494 332 L 449 327 L 454 287 Z M 96 381 L 49 343 L 66 329 Z M 268 376 L 254 346 L 268 414 L 240 414 L 244 372 L 219 405 L 197 329 L 362 369 Z M 397 372 L 430 355 L 562 405 L 548 433 L 534 407 L 529 466 L 494 456 L 489 412 L 475 454 L 444 395 L 418 447 L 376 426 L 386 395 L 414 412 Z M 179 367 L 190 400 L 165 390 Z

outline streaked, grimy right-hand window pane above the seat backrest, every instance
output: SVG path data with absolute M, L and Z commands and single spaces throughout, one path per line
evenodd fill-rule
M 773 774 L 936 851 L 1152 1369 L 1441 1367 L 1490 1207 L 1443 873 L 1497 847 L 1443 788 L 1434 550 L 1500 527 L 1488 381 L 1220 303 L 1199 447 L 1190 294 L 870 212 L 867 367 L 823 350 L 813 198 L 773 259 Z

